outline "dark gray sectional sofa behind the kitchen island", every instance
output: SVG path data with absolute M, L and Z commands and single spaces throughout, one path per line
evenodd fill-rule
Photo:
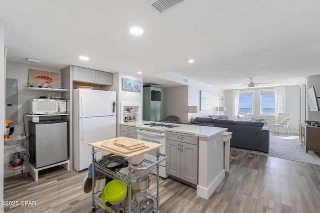
M 228 132 L 232 132 L 231 147 L 256 150 L 264 153 L 269 152 L 270 129 L 269 127 L 263 127 L 264 123 L 262 122 L 196 117 L 194 124 L 227 128 Z

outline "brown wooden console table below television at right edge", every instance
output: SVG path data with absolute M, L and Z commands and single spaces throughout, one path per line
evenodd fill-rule
M 299 139 L 301 146 L 305 146 L 305 151 L 320 151 L 320 127 L 300 123 Z

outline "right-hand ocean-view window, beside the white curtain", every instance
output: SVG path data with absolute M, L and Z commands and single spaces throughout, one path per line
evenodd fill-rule
M 260 93 L 260 114 L 275 114 L 274 90 L 261 90 Z

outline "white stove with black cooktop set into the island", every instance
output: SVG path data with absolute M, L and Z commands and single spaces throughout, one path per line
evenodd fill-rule
M 136 127 L 137 139 L 162 144 L 159 148 L 161 154 L 165 154 L 165 131 L 169 128 L 182 126 L 181 124 L 155 122 L 150 124 L 139 124 Z M 156 161 L 156 150 L 144 154 L 144 158 L 152 162 Z M 165 160 L 159 164 L 159 176 L 167 178 L 165 171 Z

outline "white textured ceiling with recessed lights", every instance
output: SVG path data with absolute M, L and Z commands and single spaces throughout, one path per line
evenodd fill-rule
M 2 0 L 7 59 L 141 71 L 144 82 L 167 86 L 152 76 L 173 72 L 222 89 L 246 88 L 232 84 L 249 77 L 273 82 L 265 87 L 320 74 L 320 0 L 186 0 L 162 14 L 145 2 Z M 131 26 L 143 34 L 129 34 Z

